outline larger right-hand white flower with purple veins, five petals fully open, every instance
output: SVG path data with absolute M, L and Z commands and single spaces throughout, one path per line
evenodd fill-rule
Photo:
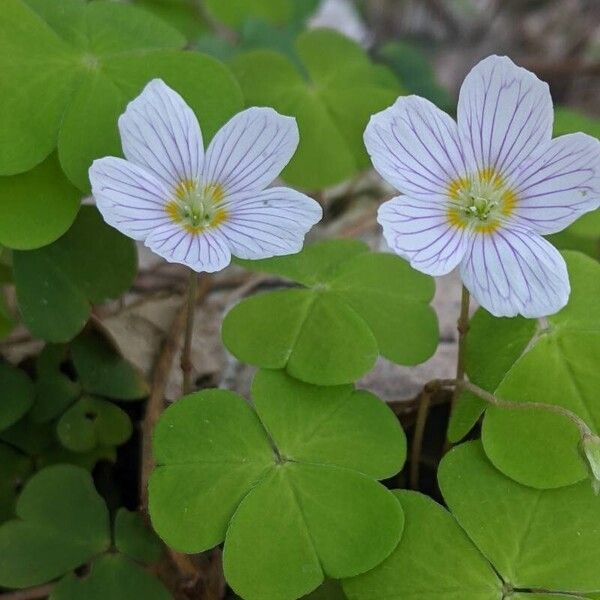
M 467 75 L 458 123 L 416 96 L 374 115 L 365 144 L 404 194 L 379 209 L 390 247 L 430 275 L 460 265 L 464 285 L 496 316 L 562 308 L 565 261 L 542 235 L 600 205 L 600 142 L 551 139 L 552 121 L 547 84 L 498 56 Z

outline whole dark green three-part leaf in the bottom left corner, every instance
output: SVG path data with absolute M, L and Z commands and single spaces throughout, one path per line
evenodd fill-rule
M 119 553 L 110 549 L 108 510 L 83 469 L 56 465 L 34 475 L 19 496 L 16 516 L 0 526 L 0 585 L 22 588 L 65 575 L 52 590 L 52 600 L 171 598 L 153 575 L 130 560 L 150 563 L 160 556 L 160 544 L 139 513 L 117 511 Z M 89 575 L 72 573 L 89 561 Z

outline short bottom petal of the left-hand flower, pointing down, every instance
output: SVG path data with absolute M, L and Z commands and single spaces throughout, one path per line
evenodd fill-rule
M 145 244 L 168 262 L 187 265 L 199 273 L 221 271 L 231 262 L 227 241 L 215 229 L 189 233 L 172 224 L 153 232 Z

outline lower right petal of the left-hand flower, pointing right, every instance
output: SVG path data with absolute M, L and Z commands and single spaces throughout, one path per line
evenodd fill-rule
M 220 233 L 239 258 L 259 259 L 300 252 L 304 236 L 323 217 L 318 202 L 283 187 L 231 194 Z

